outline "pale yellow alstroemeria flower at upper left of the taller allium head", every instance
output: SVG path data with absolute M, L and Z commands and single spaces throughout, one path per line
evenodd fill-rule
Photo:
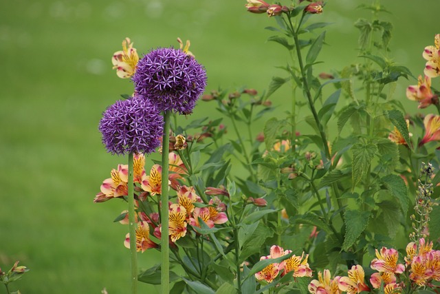
M 113 57 L 111 58 L 113 69 L 116 69 L 116 74 L 118 74 L 120 78 L 133 76 L 137 61 L 139 61 L 139 56 L 129 38 L 125 38 L 125 40 L 122 41 L 122 51 L 113 53 Z

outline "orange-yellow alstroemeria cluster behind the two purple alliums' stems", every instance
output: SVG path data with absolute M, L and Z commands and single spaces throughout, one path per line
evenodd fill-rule
M 171 242 L 174 243 L 179 238 L 183 238 L 188 233 L 188 225 L 194 228 L 193 231 L 197 233 L 197 228 L 202 227 L 201 220 L 210 228 L 214 227 L 214 224 L 227 222 L 226 206 L 217 196 L 213 196 L 207 203 L 203 203 L 197 195 L 195 187 L 185 185 L 184 176 L 187 170 L 180 156 L 175 152 L 170 152 L 168 160 L 170 163 L 168 185 L 176 192 L 175 203 L 168 203 Z M 158 196 L 162 194 L 162 167 L 157 164 L 153 165 L 147 174 L 144 165 L 144 155 L 135 154 L 133 156 L 133 182 L 136 199 L 136 247 L 137 251 L 142 252 L 157 247 L 157 244 L 151 240 L 150 233 L 158 239 L 162 233 L 159 213 L 152 212 L 159 204 Z M 207 189 L 206 195 L 212 195 L 211 192 L 214 189 L 217 188 Z M 111 198 L 125 198 L 128 195 L 128 165 L 118 165 L 118 169 L 112 169 L 111 178 L 102 182 L 100 190 L 94 202 L 104 202 Z M 221 193 L 217 195 L 221 195 Z M 222 195 L 227 196 L 225 193 Z M 197 206 L 195 202 L 197 202 Z M 128 224 L 127 212 L 122 211 L 118 219 L 122 224 Z M 124 244 L 129 248 L 129 234 L 126 235 Z

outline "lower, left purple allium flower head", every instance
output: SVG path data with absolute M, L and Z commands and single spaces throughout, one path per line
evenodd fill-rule
M 160 146 L 164 118 L 153 103 L 133 97 L 107 107 L 98 129 L 102 143 L 111 154 L 150 154 Z

